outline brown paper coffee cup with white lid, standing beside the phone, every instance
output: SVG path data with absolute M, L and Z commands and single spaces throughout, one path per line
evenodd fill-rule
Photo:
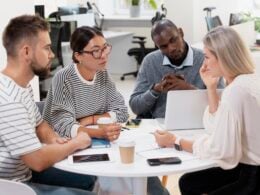
M 123 164 L 131 164 L 134 162 L 135 142 L 134 141 L 120 141 L 119 152 L 121 162 Z

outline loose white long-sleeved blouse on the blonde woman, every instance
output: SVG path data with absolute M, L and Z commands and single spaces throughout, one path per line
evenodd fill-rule
M 228 85 L 214 114 L 204 113 L 210 131 L 194 141 L 193 153 L 212 159 L 223 169 L 239 162 L 260 165 L 260 76 L 237 76 Z

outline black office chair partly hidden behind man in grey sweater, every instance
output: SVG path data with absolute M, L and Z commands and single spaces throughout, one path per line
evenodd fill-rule
M 162 20 L 166 17 L 167 9 L 164 7 L 164 5 L 161 5 L 162 12 L 157 11 L 155 13 L 155 16 L 151 19 L 152 25 L 154 25 L 155 22 Z M 134 77 L 137 76 L 139 67 L 142 64 L 143 58 L 150 52 L 157 50 L 158 48 L 155 46 L 153 48 L 147 48 L 145 47 L 145 41 L 146 37 L 143 36 L 133 36 L 132 43 L 139 44 L 139 47 L 134 47 L 128 50 L 127 54 L 129 56 L 134 56 L 137 62 L 137 70 L 133 72 L 124 73 L 120 79 L 123 81 L 125 80 L 125 76 L 133 75 Z

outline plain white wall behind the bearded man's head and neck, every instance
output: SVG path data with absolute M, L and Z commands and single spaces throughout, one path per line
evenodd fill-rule
M 8 10 L 8 11 L 7 11 Z M 21 14 L 32 14 L 34 13 L 34 1 L 17 1 L 17 0 L 8 0 L 0 7 L 0 32 L 1 32 L 1 46 L 0 46 L 0 70 L 2 70 L 6 65 L 6 53 L 2 46 L 2 33 L 9 22 L 10 18 L 18 16 Z M 35 78 L 32 81 L 32 86 L 34 90 L 35 100 L 39 100 L 39 82 L 38 78 Z

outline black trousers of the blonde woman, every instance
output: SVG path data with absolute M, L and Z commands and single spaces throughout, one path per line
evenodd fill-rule
M 179 187 L 182 195 L 260 195 L 260 166 L 240 163 L 230 170 L 187 173 L 180 178 Z

